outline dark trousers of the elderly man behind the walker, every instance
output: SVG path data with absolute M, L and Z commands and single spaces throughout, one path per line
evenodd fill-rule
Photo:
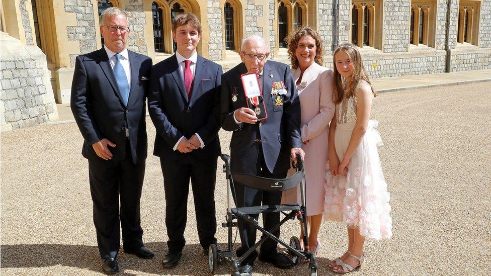
M 233 162 L 233 160 L 232 160 Z M 285 178 L 287 171 L 282 173 L 271 173 L 269 172 L 266 163 L 264 162 L 264 156 L 262 148 L 259 151 L 258 160 L 256 162 L 256 171 L 251 173 L 253 175 L 262 176 L 266 178 Z M 238 181 L 233 181 L 234 187 L 232 187 L 232 196 L 237 207 L 251 207 L 251 206 L 261 206 L 261 205 L 278 205 L 281 202 L 282 192 L 265 192 L 250 187 L 244 186 L 243 183 Z M 235 188 L 235 193 L 233 189 Z M 250 215 L 256 220 L 259 219 L 259 214 Z M 264 228 L 269 231 L 273 229 L 280 222 L 280 213 L 263 213 L 263 223 Z M 256 228 L 249 223 L 238 220 L 238 229 L 240 232 L 240 241 L 242 245 L 237 249 L 237 256 L 242 256 L 246 253 L 249 248 L 254 246 L 256 243 Z M 280 237 L 280 229 L 273 232 L 277 237 Z M 261 244 L 260 254 L 270 255 L 276 254 L 278 251 L 276 247 L 278 243 L 273 239 L 266 239 L 263 244 Z M 254 263 L 258 256 L 257 251 L 254 251 L 249 255 L 244 263 Z

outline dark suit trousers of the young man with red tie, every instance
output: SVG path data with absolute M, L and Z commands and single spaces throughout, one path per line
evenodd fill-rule
M 186 244 L 184 230 L 188 216 L 189 180 L 193 189 L 196 224 L 201 246 L 216 244 L 215 180 L 217 157 L 197 160 L 160 158 L 166 194 L 166 227 L 169 251 L 181 251 Z

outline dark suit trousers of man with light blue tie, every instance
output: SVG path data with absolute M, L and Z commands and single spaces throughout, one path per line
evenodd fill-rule
M 94 225 L 101 258 L 115 258 L 119 250 L 119 224 L 124 250 L 143 246 L 140 226 L 140 198 L 145 161 L 133 163 L 129 143 L 126 159 L 89 160 L 89 181 L 94 203 Z M 121 202 L 121 206 L 120 203 Z

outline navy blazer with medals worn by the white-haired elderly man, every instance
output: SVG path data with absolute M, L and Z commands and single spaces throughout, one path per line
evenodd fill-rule
M 261 125 L 237 125 L 233 112 L 247 107 L 240 75 L 247 72 L 246 65 L 240 63 L 222 76 L 221 89 L 221 126 L 233 131 L 230 140 L 231 169 L 234 172 L 253 173 L 256 170 L 259 147 L 255 142 L 261 139 L 263 155 L 271 173 L 281 173 L 290 167 L 290 150 L 302 147 L 300 134 L 300 101 L 290 67 L 284 63 L 268 60 L 263 68 L 263 97 L 268 118 Z M 287 94 L 284 104 L 275 106 L 271 95 L 272 84 L 285 83 Z M 232 87 L 238 87 L 237 101 L 232 101 Z

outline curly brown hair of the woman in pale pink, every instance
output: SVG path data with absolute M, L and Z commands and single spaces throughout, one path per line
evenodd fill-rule
M 322 51 L 322 39 L 320 38 L 319 34 L 312 30 L 310 27 L 300 27 L 295 33 L 288 35 L 285 40 L 288 44 L 288 57 L 291 60 L 292 68 L 296 69 L 298 68 L 298 59 L 297 55 L 295 54 L 295 51 L 298 46 L 298 41 L 303 37 L 303 36 L 309 36 L 315 40 L 315 58 L 314 61 L 315 63 L 319 64 L 322 66 L 322 63 L 324 61 L 324 53 Z

